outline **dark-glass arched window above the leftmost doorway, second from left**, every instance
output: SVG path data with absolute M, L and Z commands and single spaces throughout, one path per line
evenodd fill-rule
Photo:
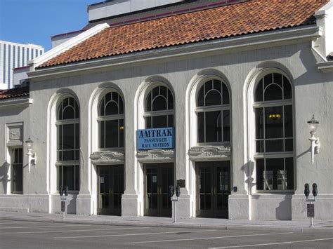
M 124 147 L 124 105 L 117 92 L 110 92 L 100 100 L 98 108 L 99 147 Z

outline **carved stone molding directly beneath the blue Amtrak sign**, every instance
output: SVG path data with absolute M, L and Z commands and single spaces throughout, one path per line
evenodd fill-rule
M 140 162 L 174 161 L 174 149 L 149 149 L 138 151 L 136 157 Z

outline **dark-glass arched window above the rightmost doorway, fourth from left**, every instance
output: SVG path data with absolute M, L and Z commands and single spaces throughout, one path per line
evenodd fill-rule
M 230 100 L 225 83 L 205 82 L 197 93 L 197 143 L 230 142 Z

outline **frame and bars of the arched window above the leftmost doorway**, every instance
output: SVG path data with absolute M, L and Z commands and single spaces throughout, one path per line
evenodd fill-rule
M 112 93 L 117 94 L 117 101 L 113 100 Z M 109 101 L 106 102 L 105 97 L 111 94 L 111 98 Z M 116 90 L 110 90 L 107 93 L 101 95 L 100 100 L 98 102 L 98 149 L 99 150 L 107 150 L 107 149 L 122 149 L 124 148 L 124 101 L 122 99 L 122 95 L 120 95 Z M 117 105 L 118 112 L 117 114 L 105 115 L 105 109 L 109 102 L 114 102 Z M 101 105 L 104 105 L 104 114 L 100 113 Z M 104 125 L 104 130 L 102 133 L 101 130 L 101 123 L 106 121 L 118 121 L 118 141 L 117 146 L 109 147 L 106 145 L 106 125 Z M 104 134 L 104 135 L 103 135 Z M 103 138 L 102 138 L 103 137 Z M 103 139 L 103 141 L 102 141 Z

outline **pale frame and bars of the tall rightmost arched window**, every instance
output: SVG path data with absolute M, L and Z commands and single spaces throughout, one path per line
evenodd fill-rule
M 256 95 L 256 89 L 257 86 L 259 86 L 259 83 L 261 83 L 261 80 L 264 80 L 264 78 L 268 75 L 274 75 L 274 74 L 280 74 L 282 75 L 282 86 L 284 86 L 284 81 L 285 79 L 287 79 L 287 81 L 289 81 L 290 84 L 290 88 L 291 88 L 291 97 L 288 99 L 285 99 L 285 93 L 283 93 L 282 91 L 282 100 L 263 100 L 262 101 L 255 101 L 255 95 Z M 273 78 L 272 78 L 273 79 Z M 273 79 L 274 81 L 274 79 Z M 273 82 L 272 84 L 276 85 L 275 82 Z M 264 95 L 264 90 L 266 90 L 268 88 L 268 86 L 264 86 L 265 83 L 263 82 L 263 95 Z M 254 191 L 256 191 L 257 193 L 266 193 L 266 192 L 294 192 L 294 187 L 295 187 L 295 159 L 294 159 L 294 89 L 293 89 L 293 85 L 292 85 L 292 81 L 290 80 L 290 77 L 287 76 L 287 74 L 285 74 L 284 72 L 282 72 L 280 69 L 275 69 L 275 68 L 269 68 L 269 69 L 262 69 L 261 72 L 258 74 L 258 76 L 256 76 L 255 79 L 255 83 L 253 85 L 253 88 L 249 89 L 252 93 L 252 96 L 250 98 L 250 100 L 252 100 L 252 104 L 249 105 L 249 113 L 250 115 L 250 122 L 252 124 L 250 124 L 250 127 L 252 127 L 253 129 L 250 130 L 250 135 L 249 135 L 249 139 L 252 140 L 253 142 L 249 142 L 249 151 L 250 153 L 252 153 L 252 159 L 254 161 L 254 179 L 256 180 L 256 189 L 254 189 Z M 282 87 L 281 90 L 284 90 L 284 88 Z M 285 107 L 290 106 L 291 108 L 291 116 L 292 116 L 292 137 L 285 137 Z M 256 137 L 256 132 L 257 132 L 257 127 L 256 127 L 256 110 L 260 109 L 260 108 L 269 108 L 269 107 L 282 107 L 282 119 L 283 119 L 283 136 L 282 137 L 278 137 L 276 140 L 283 140 L 283 151 L 282 152 L 267 152 L 266 149 L 266 141 L 267 140 L 275 140 L 275 139 L 266 139 L 266 137 L 264 137 L 264 139 L 257 139 Z M 251 111 L 252 109 L 252 111 Z M 266 118 L 266 117 L 265 117 Z M 265 124 L 263 124 L 263 126 L 265 126 Z M 266 129 L 263 129 L 263 135 L 265 136 L 266 134 Z M 288 150 L 286 151 L 285 149 L 285 140 L 289 140 L 292 139 L 292 150 Z M 259 141 L 263 141 L 263 151 L 261 151 L 261 149 L 257 149 L 257 143 Z M 259 152 L 258 152 L 259 151 Z M 266 170 L 268 168 L 268 161 L 272 162 L 273 160 L 276 161 L 283 161 L 283 170 L 273 170 L 274 173 L 270 172 L 272 170 Z M 262 165 L 263 163 L 263 165 Z M 289 166 L 287 166 L 287 164 L 289 163 Z M 290 163 L 292 163 L 292 166 L 290 166 Z M 272 163 L 273 165 L 273 163 Z M 263 167 L 263 174 L 261 174 L 261 170 L 259 170 L 259 167 Z M 273 166 L 272 166 L 273 168 Z M 292 175 L 289 175 L 287 177 L 288 174 L 288 170 L 287 168 L 289 168 L 289 170 L 292 170 Z M 276 172 L 275 172 L 276 171 Z M 282 173 L 280 175 L 278 175 L 278 171 L 282 171 Z M 262 177 L 260 179 L 260 177 Z M 280 178 L 279 178 L 280 177 Z M 261 181 L 262 180 L 262 181 Z M 281 180 L 282 184 L 278 184 L 279 180 Z M 292 181 L 292 184 L 287 184 L 286 181 Z M 260 185 L 262 182 L 262 186 L 263 188 L 261 189 Z M 272 182 L 270 184 L 270 182 Z M 290 182 L 289 182 L 290 183 Z M 291 186 L 290 186 L 291 185 Z M 275 189 L 276 186 L 276 189 Z

